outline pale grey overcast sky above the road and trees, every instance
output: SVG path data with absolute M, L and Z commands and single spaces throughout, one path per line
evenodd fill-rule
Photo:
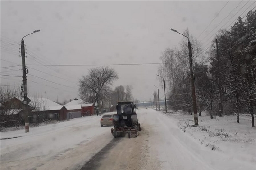
M 21 66 L 2 67 L 21 65 L 22 37 L 40 29 L 41 32 L 24 38 L 28 93 L 55 101 L 58 95 L 60 102 L 73 99 L 78 97 L 79 78 L 95 66 L 29 64 L 159 63 L 162 51 L 178 46 L 183 39 L 170 28 L 180 32 L 188 28 L 190 34 L 199 37 L 203 49 L 207 48 L 213 39 L 209 39 L 211 34 L 222 26 L 226 28 L 255 6 L 254 1 L 240 2 L 1 1 L 1 74 L 22 76 Z M 158 64 L 111 67 L 119 75 L 113 89 L 117 85 L 132 85 L 134 98 L 148 101 L 157 90 L 156 85 L 160 88 L 160 98 L 164 99 L 164 90 L 156 76 Z M 1 85 L 21 82 L 22 77 L 1 76 Z

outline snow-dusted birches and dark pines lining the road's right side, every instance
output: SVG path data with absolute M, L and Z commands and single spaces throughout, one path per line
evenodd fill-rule
M 199 112 L 207 110 L 212 119 L 216 115 L 236 113 L 238 123 L 239 113 L 249 113 L 253 119 L 256 112 L 256 11 L 247 13 L 244 21 L 238 17 L 229 30 L 220 30 L 206 54 L 188 30 L 184 34 L 192 44 Z M 166 79 L 169 107 L 192 114 L 186 40 L 178 48 L 166 49 L 160 59 L 162 65 L 158 74 Z

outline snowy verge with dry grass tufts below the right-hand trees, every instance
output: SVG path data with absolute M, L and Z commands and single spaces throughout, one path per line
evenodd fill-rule
M 236 115 L 217 116 L 210 119 L 202 113 L 198 117 L 199 126 L 194 126 L 194 115 L 181 112 L 169 114 L 178 119 L 178 126 L 201 145 L 211 150 L 233 154 L 241 160 L 256 162 L 256 128 L 251 127 L 251 119 Z

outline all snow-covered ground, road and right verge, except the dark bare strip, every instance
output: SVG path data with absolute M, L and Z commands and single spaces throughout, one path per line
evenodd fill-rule
M 256 170 L 256 128 L 250 117 L 199 117 L 180 112 L 137 111 L 142 126 L 137 138 L 121 138 L 95 170 Z M 96 153 L 113 142 L 112 127 L 100 117 L 1 132 L 1 169 L 80 170 Z M 94 169 L 93 169 L 94 170 Z

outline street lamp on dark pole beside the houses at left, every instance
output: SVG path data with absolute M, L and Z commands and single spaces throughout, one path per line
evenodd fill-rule
M 35 30 L 33 31 L 33 33 L 39 32 L 40 30 Z M 30 34 L 33 34 L 30 33 Z M 27 34 L 26 36 L 30 35 Z M 24 37 L 26 37 L 24 36 Z M 24 110 L 24 120 L 25 120 L 25 132 L 29 132 L 29 119 L 28 119 L 28 104 L 31 101 L 28 97 L 27 97 L 27 68 L 26 68 L 26 63 L 25 63 L 25 45 L 24 45 L 24 40 L 22 37 L 21 40 L 21 57 L 22 57 L 22 72 L 23 72 L 23 97 L 24 100 L 22 101 L 23 103 L 23 110 Z

